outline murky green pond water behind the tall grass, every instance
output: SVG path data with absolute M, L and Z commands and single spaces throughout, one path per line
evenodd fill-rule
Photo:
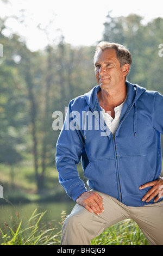
M 10 205 L 4 204 L 0 205 L 0 227 L 4 227 L 8 224 L 9 226 L 13 225 L 13 222 L 22 220 L 23 223 L 28 222 L 30 216 L 37 208 L 36 214 L 39 212 L 45 212 L 45 215 L 41 219 L 41 222 L 52 223 L 52 225 L 58 225 L 58 222 L 61 220 L 62 210 L 66 211 L 66 214 L 70 214 L 74 202 L 61 202 L 61 203 L 28 203 L 22 205 Z M 5 224 L 4 224 L 5 223 Z

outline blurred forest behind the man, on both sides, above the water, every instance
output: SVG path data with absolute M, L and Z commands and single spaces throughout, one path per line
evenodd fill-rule
M 103 36 L 97 41 L 127 46 L 133 57 L 128 81 L 163 94 L 163 19 L 146 25 L 142 20 L 136 14 L 111 17 L 108 13 Z M 55 169 L 60 130 L 53 130 L 52 115 L 55 111 L 64 114 L 71 99 L 96 86 L 92 63 L 96 46 L 74 47 L 61 35 L 57 44 L 31 51 L 20 35 L 8 37 L 4 30 L 5 19 L 0 18 L 0 185 L 4 197 L 0 203 L 5 199 L 12 203 L 67 200 Z M 85 179 L 80 164 L 78 169 Z

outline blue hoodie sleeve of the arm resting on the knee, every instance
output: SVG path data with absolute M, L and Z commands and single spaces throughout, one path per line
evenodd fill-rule
M 67 195 L 74 201 L 86 192 L 84 182 L 79 178 L 76 164 L 80 162 L 84 147 L 83 136 L 79 129 L 73 129 L 72 102 L 68 105 L 64 126 L 56 145 L 56 167 L 59 182 Z

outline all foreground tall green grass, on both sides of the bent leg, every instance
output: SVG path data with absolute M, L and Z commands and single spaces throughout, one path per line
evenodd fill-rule
M 11 225 L 4 223 L 4 230 L 0 228 L 1 245 L 59 245 L 62 223 L 66 212 L 61 212 L 61 221 L 58 227 L 43 223 L 45 212 L 37 213 L 35 209 L 32 216 L 23 223 L 17 213 L 17 221 L 12 220 Z M 91 240 L 91 245 L 148 245 L 145 236 L 137 224 L 127 219 L 103 231 L 101 235 Z

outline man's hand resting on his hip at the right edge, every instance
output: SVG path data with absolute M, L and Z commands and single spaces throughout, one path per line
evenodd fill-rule
M 157 180 L 148 182 L 144 185 L 141 185 L 139 187 L 140 190 L 143 190 L 143 188 L 146 187 L 152 187 L 151 190 L 149 190 L 145 196 L 141 199 L 142 201 L 146 201 L 147 203 L 151 201 L 154 197 L 156 197 L 153 202 L 157 202 L 160 198 L 163 197 L 163 178 L 159 178 Z

